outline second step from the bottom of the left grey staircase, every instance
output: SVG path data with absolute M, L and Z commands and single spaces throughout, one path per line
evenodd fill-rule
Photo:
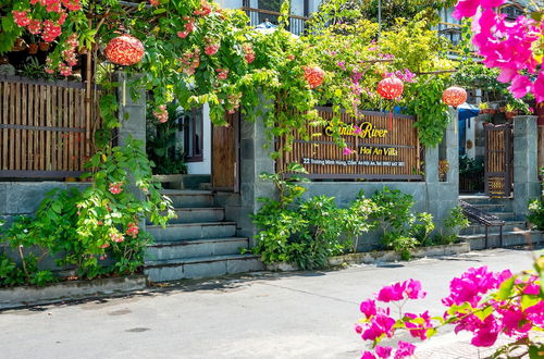
M 160 261 L 196 257 L 239 255 L 240 248 L 248 249 L 248 247 L 249 239 L 240 237 L 160 242 L 146 248 L 145 260 Z

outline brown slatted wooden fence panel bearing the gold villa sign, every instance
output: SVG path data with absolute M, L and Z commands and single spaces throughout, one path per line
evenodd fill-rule
M 327 121 L 334 116 L 329 108 L 320 108 L 319 112 Z M 329 126 L 308 124 L 311 140 L 295 135 L 293 150 L 282 152 L 276 171 L 285 172 L 288 163 L 296 162 L 314 180 L 423 181 L 423 148 L 413 127 L 416 117 L 394 114 L 390 131 L 387 113 L 362 111 L 361 115 L 341 115 L 348 125 L 342 137 L 353 153 L 344 154 L 330 136 Z M 284 140 L 276 141 L 276 149 L 283 148 Z

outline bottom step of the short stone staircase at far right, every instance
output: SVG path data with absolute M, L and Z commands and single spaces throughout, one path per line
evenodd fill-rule
M 485 249 L 485 234 L 460 235 L 458 238 L 469 242 L 471 250 Z M 543 232 L 540 231 L 504 232 L 502 247 L 539 244 L 542 243 L 543 239 Z M 487 236 L 487 247 L 500 247 L 500 237 L 498 234 L 490 234 Z

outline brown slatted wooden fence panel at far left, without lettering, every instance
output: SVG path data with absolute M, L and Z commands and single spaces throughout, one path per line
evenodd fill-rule
M 0 177 L 71 177 L 84 172 L 100 126 L 85 84 L 0 77 Z

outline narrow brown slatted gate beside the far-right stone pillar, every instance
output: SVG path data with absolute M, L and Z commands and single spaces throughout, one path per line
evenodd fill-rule
M 484 125 L 485 194 L 491 197 L 510 197 L 512 173 L 512 126 Z

